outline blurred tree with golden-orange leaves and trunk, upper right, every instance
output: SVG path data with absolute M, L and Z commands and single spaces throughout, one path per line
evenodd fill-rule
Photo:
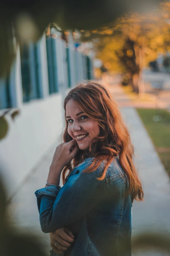
M 143 93 L 141 70 L 158 53 L 170 51 L 170 2 L 147 14 L 129 13 L 109 26 L 82 33 L 83 41 L 93 41 L 96 55 L 108 71 L 126 73 L 136 93 Z

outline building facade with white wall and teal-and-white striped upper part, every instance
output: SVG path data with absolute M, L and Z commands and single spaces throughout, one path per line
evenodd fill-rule
M 9 110 L 8 133 L 0 141 L 1 171 L 7 186 L 13 184 L 9 195 L 51 145 L 62 141 L 64 97 L 84 79 L 93 79 L 92 60 L 76 50 L 71 34 L 65 41 L 53 29 L 21 52 L 18 47 L 9 76 L 0 79 L 0 113 Z

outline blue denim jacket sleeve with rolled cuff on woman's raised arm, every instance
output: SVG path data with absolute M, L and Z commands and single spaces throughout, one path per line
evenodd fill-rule
M 84 165 L 83 169 L 87 168 L 87 163 Z M 100 166 L 90 173 L 82 172 L 82 166 L 81 169 L 76 168 L 61 189 L 49 186 L 35 192 L 40 225 L 45 233 L 75 222 L 106 195 L 105 179 L 96 179 L 102 172 Z

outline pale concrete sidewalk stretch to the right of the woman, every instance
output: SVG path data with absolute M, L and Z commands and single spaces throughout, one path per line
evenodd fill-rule
M 134 202 L 133 235 L 144 230 L 170 234 L 170 180 L 137 111 L 118 84 L 105 84 L 119 103 L 135 146 L 135 164 L 141 177 L 145 201 Z

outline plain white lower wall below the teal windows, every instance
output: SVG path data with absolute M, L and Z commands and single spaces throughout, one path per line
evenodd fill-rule
M 57 146 L 62 113 L 62 95 L 52 94 L 23 104 L 15 120 L 6 115 L 9 131 L 0 142 L 0 168 L 8 196 L 16 191 L 50 146 L 55 142 Z

